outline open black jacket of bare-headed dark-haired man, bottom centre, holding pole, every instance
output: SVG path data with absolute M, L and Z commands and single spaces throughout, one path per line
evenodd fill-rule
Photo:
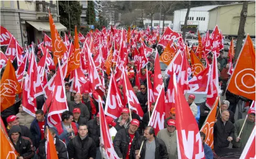
M 168 159 L 168 152 L 165 143 L 163 140 L 155 137 L 155 159 Z M 132 156 L 133 158 L 136 157 L 135 150 L 140 150 L 140 146 L 142 141 L 144 140 L 141 152 L 140 152 L 140 158 L 145 158 L 146 153 L 146 138 L 144 136 L 140 136 L 138 140 L 136 140 L 135 144 L 132 145 Z

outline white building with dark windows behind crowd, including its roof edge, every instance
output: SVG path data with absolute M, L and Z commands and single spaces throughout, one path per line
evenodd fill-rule
M 206 32 L 209 21 L 209 10 L 217 7 L 217 5 L 194 7 L 190 9 L 187 19 L 187 27 L 184 28 L 187 9 L 174 11 L 173 30 L 174 31 L 194 31 Z

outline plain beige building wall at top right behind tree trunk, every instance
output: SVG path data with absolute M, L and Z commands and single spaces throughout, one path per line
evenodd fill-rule
M 242 4 L 220 6 L 209 11 L 208 29 L 213 30 L 216 25 L 224 35 L 237 35 Z M 248 4 L 248 13 L 244 31 L 255 36 L 255 2 Z

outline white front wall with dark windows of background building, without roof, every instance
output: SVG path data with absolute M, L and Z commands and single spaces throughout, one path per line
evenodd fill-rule
M 181 25 L 184 25 L 184 21 L 186 18 L 186 10 L 175 10 L 174 11 L 174 19 L 173 19 L 173 30 L 180 31 Z M 207 31 L 208 21 L 209 21 L 209 13 L 208 11 L 190 11 L 188 16 L 190 19 L 187 20 L 188 23 L 194 25 L 198 24 L 199 31 Z M 200 17 L 200 20 L 199 20 Z M 203 18 L 203 20 L 201 20 Z M 182 24 L 183 23 L 183 24 Z

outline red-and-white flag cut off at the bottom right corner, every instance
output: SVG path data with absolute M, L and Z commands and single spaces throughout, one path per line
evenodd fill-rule
M 253 159 L 255 158 L 255 126 L 252 130 L 250 138 L 248 139 L 246 146 L 240 156 L 240 159 Z

